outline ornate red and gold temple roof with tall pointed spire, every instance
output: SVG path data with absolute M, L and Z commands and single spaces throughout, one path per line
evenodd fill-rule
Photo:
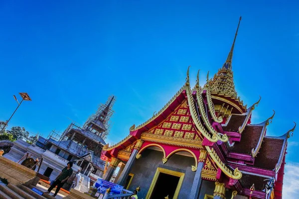
M 232 58 L 240 21 L 241 17 L 228 57 L 212 79 L 207 77 L 207 83 L 201 87 L 197 74 L 196 84 L 191 90 L 188 68 L 185 84 L 169 102 L 148 121 L 137 127 L 133 125 L 124 140 L 111 147 L 106 145 L 101 158 L 109 160 L 119 156 L 125 160 L 126 156 L 128 159 L 129 149 L 132 150 L 138 140 L 148 142 L 147 145 L 154 143 L 154 146 L 162 144 L 204 150 L 209 161 L 214 161 L 218 171 L 229 179 L 230 186 L 234 186 L 236 180 L 242 185 L 240 189 L 248 191 L 254 183 L 256 189 L 262 192 L 266 177 L 275 177 L 281 168 L 287 139 L 295 127 L 282 137 L 266 136 L 267 126 L 275 112 L 260 124 L 250 124 L 252 112 L 261 98 L 247 109 L 235 90 Z M 187 119 L 181 120 L 182 117 Z M 173 122 L 176 124 L 173 125 Z M 188 130 L 181 128 L 183 122 L 190 125 Z M 173 130 L 173 126 L 177 131 Z M 268 176 L 263 176 L 264 172 Z

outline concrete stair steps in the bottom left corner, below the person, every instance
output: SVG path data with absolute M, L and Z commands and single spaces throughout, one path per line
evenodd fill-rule
M 8 184 L 7 186 L 0 185 L 0 199 L 55 199 L 48 194 L 40 196 L 33 192 L 32 188 L 40 190 L 33 186 L 29 186 L 28 188 L 20 184 L 18 186 L 12 184 Z

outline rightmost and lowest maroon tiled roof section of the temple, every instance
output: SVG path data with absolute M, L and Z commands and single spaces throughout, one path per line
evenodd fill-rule
M 254 167 L 274 170 L 283 150 L 284 140 L 265 137 Z

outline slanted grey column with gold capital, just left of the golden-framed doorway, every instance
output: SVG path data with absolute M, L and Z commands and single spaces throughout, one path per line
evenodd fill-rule
M 124 171 L 121 173 L 118 181 L 116 184 L 118 185 L 122 185 L 124 186 L 125 183 L 126 183 L 126 180 L 131 172 L 131 169 L 132 169 L 132 166 L 133 164 L 135 163 L 135 160 L 136 160 L 136 155 L 138 154 L 138 151 L 140 150 L 141 146 L 143 144 L 143 141 L 142 140 L 138 140 L 135 147 L 134 147 L 134 150 L 133 152 L 131 153 L 131 156 L 124 168 Z

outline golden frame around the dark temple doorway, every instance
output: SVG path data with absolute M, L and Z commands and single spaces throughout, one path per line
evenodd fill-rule
M 168 170 L 168 169 L 163 169 L 163 168 L 160 168 L 160 167 L 157 168 L 156 173 L 153 176 L 153 179 L 152 179 L 152 182 L 150 184 L 149 192 L 147 194 L 146 199 L 149 199 L 151 197 L 151 194 L 153 192 L 153 189 L 155 187 L 155 184 L 156 184 L 156 182 L 158 180 L 158 177 L 159 177 L 160 173 L 179 177 L 179 180 L 178 180 L 178 183 L 177 183 L 174 195 L 173 195 L 173 199 L 177 199 L 179 191 L 180 191 L 180 189 L 182 187 L 182 184 L 183 184 L 183 180 L 184 180 L 185 174 L 181 173 L 181 172 L 171 171 L 171 170 Z

